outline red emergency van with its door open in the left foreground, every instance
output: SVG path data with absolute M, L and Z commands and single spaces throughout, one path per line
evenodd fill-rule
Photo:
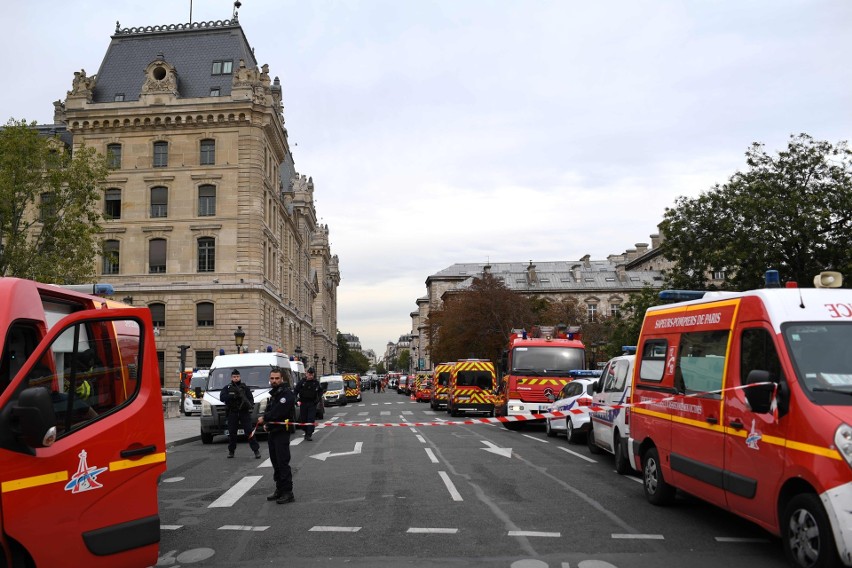
M 0 565 L 157 563 L 166 449 L 147 308 L 0 278 L 0 463 Z

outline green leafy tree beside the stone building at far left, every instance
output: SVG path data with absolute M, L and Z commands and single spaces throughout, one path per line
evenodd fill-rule
M 75 283 L 94 277 L 106 159 L 72 152 L 35 124 L 0 129 L 0 275 Z

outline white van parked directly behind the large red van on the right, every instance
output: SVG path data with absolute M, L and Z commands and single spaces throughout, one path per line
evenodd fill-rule
M 636 352 L 636 348 L 626 348 L 625 352 Z M 586 441 L 589 451 L 598 454 L 601 450 L 615 456 L 615 471 L 625 474 L 630 471 L 630 459 L 627 455 L 627 442 L 630 435 L 627 421 L 627 409 L 612 409 L 612 406 L 630 402 L 630 385 L 633 378 L 633 363 L 636 355 L 613 357 L 604 367 L 600 380 L 595 385 L 594 405 L 605 406 L 607 410 L 592 412 L 592 429 Z

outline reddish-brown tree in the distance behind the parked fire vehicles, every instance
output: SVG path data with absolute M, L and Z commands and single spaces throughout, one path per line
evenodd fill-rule
M 427 319 L 433 361 L 499 361 L 512 328 L 535 323 L 530 302 L 491 274 L 448 297 Z

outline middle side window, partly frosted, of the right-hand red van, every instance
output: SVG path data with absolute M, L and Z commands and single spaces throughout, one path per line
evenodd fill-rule
M 728 349 L 727 330 L 684 333 L 680 338 L 677 367 L 683 376 L 686 392 L 706 392 L 722 389 L 725 375 L 725 353 Z M 721 394 L 710 395 L 721 398 Z

